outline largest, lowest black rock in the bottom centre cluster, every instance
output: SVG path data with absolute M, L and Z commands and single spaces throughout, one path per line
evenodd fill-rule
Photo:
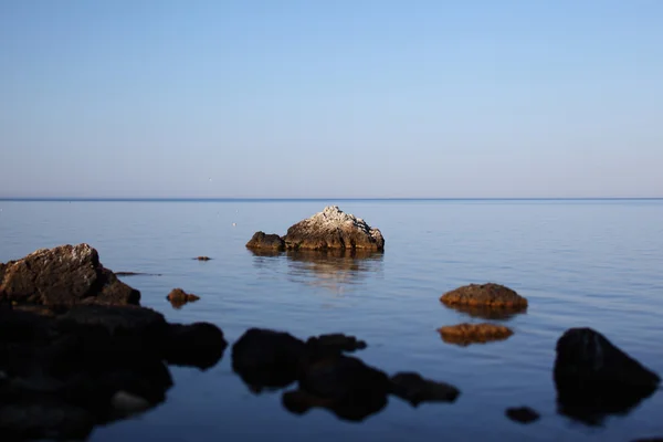
M 329 356 L 308 364 L 298 392 L 287 392 L 284 406 L 297 413 L 323 407 L 337 417 L 360 421 L 382 410 L 391 382 L 387 375 L 348 356 Z

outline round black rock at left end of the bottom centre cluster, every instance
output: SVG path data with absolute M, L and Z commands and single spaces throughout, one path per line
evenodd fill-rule
M 232 346 L 232 368 L 254 392 L 294 382 L 305 357 L 304 341 L 283 332 L 250 328 Z

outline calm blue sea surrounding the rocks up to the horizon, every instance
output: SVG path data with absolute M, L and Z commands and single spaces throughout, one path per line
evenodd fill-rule
M 284 234 L 337 204 L 386 238 L 365 260 L 256 256 L 257 230 Z M 249 327 L 301 338 L 343 332 L 368 343 L 356 356 L 388 373 L 451 382 L 455 403 L 414 409 L 390 398 L 360 423 L 325 410 L 288 413 L 281 392 L 255 396 L 230 367 L 230 347 L 208 371 L 171 368 L 162 406 L 95 430 L 91 440 L 144 441 L 628 441 L 663 436 L 663 392 L 627 415 L 588 427 L 557 413 L 551 369 L 568 327 L 590 326 L 663 373 L 663 200 L 222 200 L 0 201 L 0 262 L 86 242 L 113 271 L 158 273 L 124 281 L 171 322 L 217 324 L 230 344 Z M 233 224 L 234 223 L 234 224 Z M 208 255 L 209 262 L 192 257 Z M 514 336 L 459 347 L 436 328 L 482 322 L 445 308 L 442 293 L 505 284 L 529 299 L 505 319 Z M 173 287 L 201 301 L 173 309 Z M 507 420 L 529 406 L 540 421 Z

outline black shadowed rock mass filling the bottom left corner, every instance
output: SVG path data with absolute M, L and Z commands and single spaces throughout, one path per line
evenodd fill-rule
M 0 440 L 83 439 L 162 402 L 166 362 L 207 368 L 225 346 L 212 325 L 171 325 L 138 306 L 1 306 Z

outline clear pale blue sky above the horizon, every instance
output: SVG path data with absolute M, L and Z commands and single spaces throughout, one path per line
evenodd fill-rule
M 663 1 L 0 0 L 0 198 L 663 197 Z

